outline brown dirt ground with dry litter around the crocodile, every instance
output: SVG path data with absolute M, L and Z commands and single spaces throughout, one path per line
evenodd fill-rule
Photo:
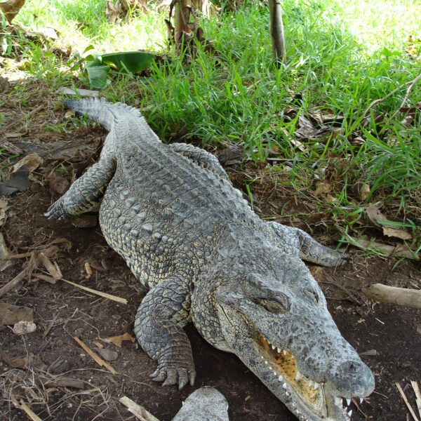
M 32 308 L 36 324 L 36 330 L 25 335 L 13 333 L 12 326 L 0 326 L 0 419 L 29 419 L 20 408 L 23 402 L 44 421 L 134 420 L 119 403 L 126 395 L 159 420 L 168 421 L 196 387 L 210 385 L 227 398 L 232 421 L 296 420 L 236 356 L 208 345 L 193 326 L 187 327 L 187 334 L 196 363 L 196 385 L 182 391 L 161 387 L 149 379 L 155 363 L 136 342 L 123 341 L 117 347 L 107 340 L 124 333 L 134 336 L 133 321 L 145 288 L 107 246 L 96 216 L 83 222 L 57 222 L 43 215 L 60 196 L 60 189 L 65 189 L 65 180 L 79 177 L 98 157 L 106 133 L 98 126 L 72 128 L 65 123 L 60 98 L 47 85 L 12 81 L 4 82 L 1 88 L 0 100 L 7 98 L 0 107 L 5 116 L 1 142 L 20 148 L 24 154 L 35 150 L 44 161 L 29 176 L 29 189 L 0 196 L 6 246 L 11 255 L 27 255 L 11 260 L 13 265 L 0 272 L 1 287 L 22 269 L 27 270 L 25 279 L 1 297 L 1 302 Z M 22 118 L 31 112 L 29 121 Z M 66 131 L 47 127 L 62 123 Z M 229 173 L 238 187 L 244 187 L 237 180 L 241 179 L 238 173 Z M 4 170 L 2 180 L 7 174 Z M 270 196 L 269 192 L 255 191 L 263 213 L 271 205 L 283 206 L 282 195 Z M 81 227 L 83 223 L 95 226 Z M 63 279 L 126 298 L 128 304 L 98 297 L 65 281 L 41 279 L 43 275 L 44 279 L 51 278 L 51 272 L 34 256 L 42 251 L 48 254 L 51 247 L 55 247 L 51 261 L 58 265 Z M 421 288 L 419 263 L 368 257 L 354 249 L 349 253 L 352 258 L 343 267 L 312 270 L 342 334 L 375 373 L 375 392 L 363 403 L 352 402 L 352 420 L 412 420 L 396 382 L 416 411 L 410 380 L 421 382 L 421 312 L 374 303 L 361 288 L 377 282 Z M 116 374 L 98 366 L 74 337 L 95 352 L 101 348 L 116 352 L 116 359 L 109 361 Z

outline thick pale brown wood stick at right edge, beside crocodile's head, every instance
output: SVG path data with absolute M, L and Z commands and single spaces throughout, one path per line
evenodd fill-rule
M 421 290 L 373 283 L 369 288 L 363 288 L 362 291 L 368 298 L 375 301 L 421 309 Z

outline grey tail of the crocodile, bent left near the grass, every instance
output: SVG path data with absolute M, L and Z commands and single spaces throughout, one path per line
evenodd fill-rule
M 88 116 L 93 121 L 98 121 L 108 131 L 112 129 L 119 117 L 142 117 L 142 114 L 133 107 L 122 102 L 107 102 L 105 98 L 89 98 L 85 100 L 65 100 L 66 108 L 73 109 L 77 114 Z

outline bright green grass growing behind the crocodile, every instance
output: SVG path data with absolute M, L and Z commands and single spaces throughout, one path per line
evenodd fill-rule
M 246 4 L 237 13 L 199 22 L 213 41 L 215 57 L 200 46 L 191 62 L 169 53 L 165 63 L 154 65 L 150 78 L 116 77 L 104 95 L 143 109 L 154 131 L 167 141 L 194 141 L 203 147 L 243 145 L 247 156 L 262 163 L 270 151 L 277 151 L 289 160 L 289 188 L 298 194 L 314 191 L 323 168 L 335 168 L 330 194 L 336 201 L 318 199 L 320 213 L 333 215 L 342 232 L 358 233 L 368 226 L 363 218 L 368 201 L 382 203 L 383 212 L 419 241 L 420 113 L 410 126 L 400 123 L 402 114 L 388 121 L 401 105 L 404 86 L 373 108 L 368 119 L 363 114 L 373 100 L 420 74 L 421 43 L 418 54 L 406 53 L 408 37 L 420 37 L 420 6 L 419 0 L 286 0 L 288 60 L 276 69 L 267 10 L 258 2 Z M 29 27 L 55 27 L 60 43 L 74 46 L 80 54 L 89 45 L 97 52 L 140 48 L 168 53 L 165 14 L 151 6 L 149 13 L 135 12 L 121 25 L 109 25 L 104 10 L 105 0 L 33 0 L 16 20 Z M 75 77 L 79 86 L 85 86 L 86 76 L 78 69 L 69 72 L 51 47 L 28 44 L 27 72 L 54 88 L 74 83 Z M 406 105 L 417 102 L 421 83 L 413 87 Z M 295 118 L 285 112 L 288 107 L 295 109 Z M 340 133 L 326 144 L 309 141 L 306 151 L 300 152 L 290 142 L 298 115 L 309 116 L 316 109 L 343 116 Z M 376 116 L 383 116 L 380 126 L 374 122 Z M 362 145 L 352 142 L 355 133 L 365 140 Z M 267 171 L 284 174 L 283 164 Z M 371 187 L 366 203 L 352 193 L 356 182 Z M 253 183 L 247 192 L 253 197 Z

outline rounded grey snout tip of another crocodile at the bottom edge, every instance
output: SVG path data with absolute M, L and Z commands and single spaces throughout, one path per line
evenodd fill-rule
M 172 421 L 229 421 L 227 399 L 213 387 L 201 387 L 189 395 Z

